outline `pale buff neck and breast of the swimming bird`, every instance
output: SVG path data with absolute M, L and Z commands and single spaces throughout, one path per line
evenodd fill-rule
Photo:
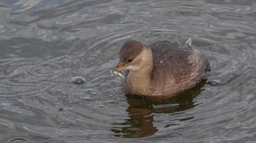
M 143 53 L 143 66 L 139 70 L 130 70 L 126 80 L 126 90 L 133 91 L 133 94 L 152 94 L 150 88 L 152 87 L 151 77 L 153 68 L 152 51 L 145 49 Z

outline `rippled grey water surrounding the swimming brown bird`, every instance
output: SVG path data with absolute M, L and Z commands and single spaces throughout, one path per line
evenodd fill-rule
M 1 142 L 255 142 L 255 0 L 4 0 L 0 13 Z M 127 40 L 194 35 L 211 72 L 182 95 L 134 97 L 109 72 Z

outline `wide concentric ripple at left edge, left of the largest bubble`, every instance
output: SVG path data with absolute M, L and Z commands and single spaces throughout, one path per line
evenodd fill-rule
M 58 61 L 41 61 L 39 59 L 17 58 L 6 60 L 1 73 L 8 74 L 8 78 L 2 80 L 1 87 L 12 88 L 12 96 L 35 95 L 50 88 L 50 84 L 62 76 L 66 71 L 60 66 Z M 3 66 L 1 66 L 3 67 Z M 44 84 L 45 83 L 45 84 Z M 9 92 L 2 90 L 2 96 L 10 96 Z

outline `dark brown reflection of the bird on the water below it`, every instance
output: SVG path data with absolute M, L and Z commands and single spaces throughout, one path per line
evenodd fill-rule
M 157 114 L 168 114 L 170 118 L 174 118 L 176 114 L 183 114 L 184 111 L 194 108 L 199 105 L 196 104 L 194 98 L 201 93 L 202 87 L 205 86 L 207 79 L 202 79 L 196 86 L 191 89 L 178 94 L 177 96 L 147 96 L 147 95 L 131 95 L 126 94 L 127 103 L 129 107 L 128 119 L 123 123 L 112 123 L 113 127 L 110 129 L 116 137 L 124 138 L 140 138 L 149 137 L 158 131 L 157 123 L 159 121 L 154 116 Z M 171 117 L 172 116 L 172 117 Z M 155 118 L 155 119 L 154 119 Z M 194 117 L 187 116 L 182 121 L 191 120 Z M 154 121 L 156 122 L 154 123 Z M 165 127 L 180 125 L 176 121 L 166 120 L 161 123 Z

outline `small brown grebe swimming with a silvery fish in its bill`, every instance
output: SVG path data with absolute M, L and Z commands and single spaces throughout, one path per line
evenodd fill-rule
M 136 95 L 174 95 L 194 87 L 210 70 L 210 60 L 185 43 L 167 40 L 148 45 L 136 40 L 124 43 L 119 63 L 111 71 L 126 92 Z

